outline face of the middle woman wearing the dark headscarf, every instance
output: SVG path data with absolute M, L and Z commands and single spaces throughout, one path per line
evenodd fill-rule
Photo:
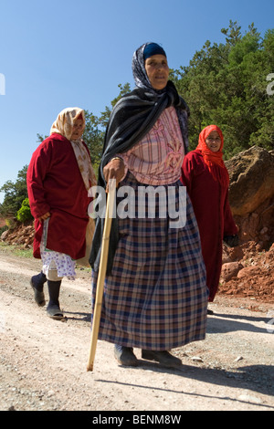
M 144 68 L 153 89 L 164 89 L 166 87 L 169 68 L 164 55 L 153 55 L 144 62 Z

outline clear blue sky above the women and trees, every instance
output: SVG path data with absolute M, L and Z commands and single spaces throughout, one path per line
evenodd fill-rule
M 225 42 L 230 19 L 264 36 L 273 12 L 273 0 L 0 0 L 0 186 L 16 182 L 60 110 L 100 116 L 120 83 L 133 87 L 143 43 L 160 43 L 179 68 L 206 40 Z

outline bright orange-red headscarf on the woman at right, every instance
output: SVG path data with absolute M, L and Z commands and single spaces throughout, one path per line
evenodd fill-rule
M 205 139 L 208 137 L 210 132 L 217 131 L 221 139 L 221 146 L 218 152 L 212 152 L 206 145 Z M 213 175 L 215 180 L 218 180 L 222 186 L 228 187 L 229 175 L 227 167 L 223 161 L 223 146 L 224 136 L 222 131 L 216 125 L 208 125 L 199 135 L 199 143 L 196 150 L 201 151 L 205 164 L 208 166 L 209 172 Z

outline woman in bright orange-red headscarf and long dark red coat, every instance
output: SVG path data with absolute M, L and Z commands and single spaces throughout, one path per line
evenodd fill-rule
M 222 268 L 223 240 L 237 245 L 237 225 L 229 202 L 229 176 L 223 161 L 224 137 L 216 125 L 200 133 L 195 151 L 184 156 L 182 183 L 191 198 L 199 226 L 209 301 L 213 302 Z M 212 311 L 209 311 L 212 313 Z

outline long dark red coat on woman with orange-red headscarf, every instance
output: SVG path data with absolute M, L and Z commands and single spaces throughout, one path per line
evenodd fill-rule
M 209 301 L 212 302 L 222 268 L 223 237 L 237 235 L 237 225 L 228 203 L 228 187 L 224 188 L 214 180 L 198 150 L 189 152 L 184 157 L 182 183 L 192 201 L 199 226 L 206 284 L 209 288 Z

